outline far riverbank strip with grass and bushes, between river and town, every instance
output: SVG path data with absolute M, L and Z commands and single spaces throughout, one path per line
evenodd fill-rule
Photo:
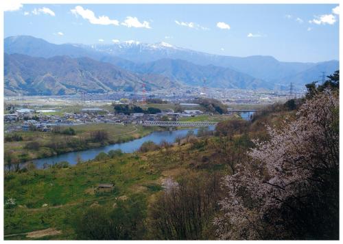
M 65 127 L 64 129 L 68 129 Z M 5 135 L 5 164 L 25 163 L 64 154 L 119 144 L 161 131 L 158 127 L 134 124 L 85 124 L 70 126 L 72 133 L 27 131 Z M 99 133 L 100 132 L 100 133 Z M 73 135 L 75 133 L 75 135 Z M 99 135 L 98 135 L 99 134 Z

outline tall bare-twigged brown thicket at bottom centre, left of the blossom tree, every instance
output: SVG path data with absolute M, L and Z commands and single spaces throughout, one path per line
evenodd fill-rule
M 163 192 L 149 208 L 152 239 L 213 239 L 211 222 L 220 196 L 216 174 L 182 176 L 177 182 L 167 178 Z

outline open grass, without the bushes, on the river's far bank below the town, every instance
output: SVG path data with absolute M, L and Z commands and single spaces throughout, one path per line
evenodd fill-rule
M 65 127 L 69 128 L 69 127 Z M 50 157 L 64 152 L 72 152 L 77 150 L 86 150 L 88 148 L 97 148 L 107 144 L 115 144 L 123 141 L 130 141 L 152 133 L 161 128 L 143 127 L 139 125 L 120 125 L 120 124 L 85 124 L 71 126 L 75 130 L 76 135 L 61 135 L 52 132 L 27 131 L 8 133 L 5 136 L 19 135 L 23 138 L 22 141 L 8 141 L 4 144 L 6 154 L 12 154 L 19 161 L 29 161 L 32 159 L 40 159 Z M 106 131 L 108 139 L 102 142 L 88 142 L 79 144 L 68 144 L 67 141 L 84 141 L 90 137 L 92 131 Z M 26 146 L 33 141 L 38 142 L 39 148 L 36 150 L 27 149 Z M 65 142 L 65 143 L 64 143 Z M 54 148 L 54 144 L 60 143 L 61 146 Z M 52 146 L 51 146 L 52 145 Z

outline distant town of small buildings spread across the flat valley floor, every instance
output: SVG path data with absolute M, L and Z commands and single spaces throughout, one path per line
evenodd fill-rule
M 205 93 L 206 92 L 206 93 Z M 51 131 L 54 126 L 73 126 L 80 124 L 142 124 L 143 121 L 178 121 L 180 118 L 195 117 L 211 112 L 200 109 L 198 103 L 192 103 L 197 97 L 217 98 L 227 111 L 232 113 L 230 105 L 268 105 L 287 99 L 285 92 L 257 92 L 253 90 L 190 89 L 182 93 L 178 90 L 162 90 L 131 94 L 116 92 L 113 94 L 76 94 L 73 96 L 11 96 L 5 97 L 5 133 L 13 131 Z M 120 113 L 113 111 L 115 105 L 145 105 L 145 100 L 158 99 L 163 103 L 180 107 L 178 111 L 168 106 L 153 113 Z M 49 107 L 49 105 L 54 107 Z M 76 107 L 75 107 L 76 106 Z M 156 106 L 155 106 L 156 107 Z M 250 110 L 252 110 L 250 108 Z

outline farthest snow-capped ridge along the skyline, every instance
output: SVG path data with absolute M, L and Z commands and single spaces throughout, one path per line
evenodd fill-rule
M 76 44 L 78 46 L 78 44 Z M 255 55 L 249 57 L 233 57 L 213 55 L 160 42 L 145 44 L 139 42 L 120 42 L 115 44 L 80 45 L 88 51 L 121 57 L 135 63 L 156 62 L 158 59 L 182 59 L 193 64 L 219 66 L 246 73 L 257 79 L 274 81 L 303 72 L 318 63 L 279 62 L 274 57 Z M 338 62 L 337 62 L 338 64 Z

